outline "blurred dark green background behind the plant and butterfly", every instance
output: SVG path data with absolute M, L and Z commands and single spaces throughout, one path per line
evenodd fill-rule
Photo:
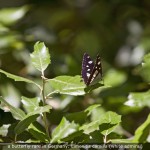
M 140 71 L 143 56 L 150 51 L 149 40 L 148 0 L 0 0 L 1 69 L 39 82 L 40 72 L 29 57 L 37 41 L 44 42 L 51 55 L 47 78 L 80 75 L 84 52 L 92 59 L 101 55 L 104 84 L 112 87 L 78 97 L 54 95 L 49 101 L 54 108 L 49 116 L 52 125 L 67 113 L 100 103 L 93 117 L 115 111 L 122 115 L 122 127 L 133 134 L 149 109 L 124 103 L 130 92 L 149 89 L 149 79 Z M 0 95 L 21 107 L 21 95 L 32 98 L 39 91 L 0 74 Z M 0 125 L 14 122 L 2 110 L 0 120 Z

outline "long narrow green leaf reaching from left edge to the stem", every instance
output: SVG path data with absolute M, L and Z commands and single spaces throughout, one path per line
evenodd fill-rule
M 40 88 L 40 85 L 38 85 L 37 83 L 33 82 L 32 80 L 29 80 L 29 79 L 26 79 L 26 78 L 23 78 L 23 77 L 20 77 L 20 76 L 13 75 L 13 74 L 8 73 L 6 71 L 3 71 L 1 69 L 0 69 L 0 72 L 5 74 L 8 78 L 11 78 L 11 79 L 13 79 L 15 81 L 22 81 L 22 82 L 32 83 L 32 84 L 34 84 L 34 85 L 36 85 L 37 87 Z

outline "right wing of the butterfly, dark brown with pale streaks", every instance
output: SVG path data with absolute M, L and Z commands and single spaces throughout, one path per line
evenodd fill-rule
M 87 82 L 86 82 L 86 85 L 93 85 L 101 79 L 102 79 L 102 65 L 101 65 L 100 55 L 98 54 L 96 57 L 95 65 L 93 67 L 93 70 L 92 70 Z

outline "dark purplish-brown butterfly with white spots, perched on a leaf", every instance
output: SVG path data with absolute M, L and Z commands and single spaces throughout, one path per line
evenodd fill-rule
M 82 78 L 87 86 L 94 85 L 102 79 L 101 58 L 98 54 L 95 63 L 87 53 L 84 53 L 82 60 Z

